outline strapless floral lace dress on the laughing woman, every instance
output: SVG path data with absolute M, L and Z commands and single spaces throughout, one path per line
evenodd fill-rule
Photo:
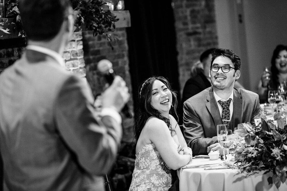
M 174 142 L 175 147 L 177 144 Z M 177 147 L 179 151 L 180 145 Z M 135 169 L 129 191 L 165 191 L 171 187 L 170 168 L 162 160 L 154 143 L 135 155 Z

